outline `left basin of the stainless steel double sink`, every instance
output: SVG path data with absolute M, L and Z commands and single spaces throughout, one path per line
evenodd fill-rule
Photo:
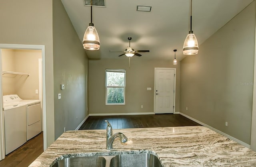
M 71 157 L 56 161 L 52 167 L 106 167 L 106 159 L 100 156 Z

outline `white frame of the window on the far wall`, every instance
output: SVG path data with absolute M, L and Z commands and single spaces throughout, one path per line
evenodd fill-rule
M 124 86 L 108 86 L 107 83 L 107 72 L 124 73 Z M 109 105 L 125 105 L 125 87 L 126 87 L 126 70 L 125 69 L 106 69 L 105 71 L 105 104 Z M 124 102 L 123 103 L 108 103 L 108 88 L 124 88 Z

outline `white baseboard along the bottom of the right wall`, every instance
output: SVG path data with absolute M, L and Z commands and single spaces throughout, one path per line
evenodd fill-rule
M 192 118 L 192 117 L 190 117 L 190 116 L 187 116 L 186 114 L 184 114 L 184 113 L 182 113 L 182 112 L 180 112 L 180 115 L 185 116 L 186 118 L 188 118 L 188 119 L 190 119 L 190 120 L 193 120 L 194 122 L 197 122 L 198 124 L 201 124 L 202 126 L 205 126 L 205 127 L 209 128 L 209 129 L 211 129 L 211 130 L 213 130 L 213 131 L 215 131 L 215 132 L 217 132 L 217 133 L 219 133 L 219 134 L 222 134 L 223 136 L 226 136 L 227 138 L 229 138 L 229 139 L 231 139 L 231 140 L 233 140 L 233 141 L 236 141 L 237 143 L 239 143 L 239 144 L 241 144 L 241 145 L 244 145 L 244 146 L 247 147 L 247 148 L 250 148 L 250 145 L 249 145 L 249 144 L 244 143 L 243 141 L 238 140 L 238 139 L 236 139 L 236 138 L 234 138 L 234 137 L 232 137 L 232 136 L 230 136 L 230 135 L 228 135 L 228 134 L 225 134 L 224 132 L 221 132 L 220 130 L 217 130 L 217 129 L 215 129 L 215 128 L 212 128 L 211 126 L 209 126 L 209 125 L 207 125 L 207 124 L 204 124 L 204 123 L 202 123 L 202 122 L 200 122 L 200 121 L 198 121 L 198 120 L 196 120 L 196 119 L 194 119 L 194 118 Z

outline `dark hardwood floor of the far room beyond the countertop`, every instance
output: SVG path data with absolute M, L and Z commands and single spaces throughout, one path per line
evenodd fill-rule
M 79 130 L 106 129 L 104 120 L 108 120 L 113 129 L 201 126 L 180 114 L 90 116 Z

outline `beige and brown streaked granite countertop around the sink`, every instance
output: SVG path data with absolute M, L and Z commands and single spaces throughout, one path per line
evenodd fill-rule
M 128 142 L 115 139 L 106 149 L 106 130 L 78 130 L 63 133 L 30 167 L 49 167 L 62 155 L 146 150 L 156 153 L 165 167 L 256 166 L 256 152 L 204 126 L 132 128 L 122 132 Z M 81 154 L 82 153 L 82 154 Z

